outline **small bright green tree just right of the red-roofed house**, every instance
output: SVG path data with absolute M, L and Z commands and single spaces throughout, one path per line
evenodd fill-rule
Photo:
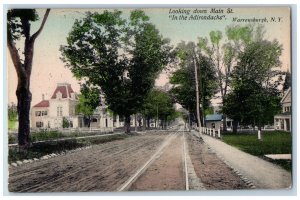
M 80 93 L 79 103 L 75 107 L 75 112 L 82 114 L 88 120 L 88 127 L 90 127 L 91 117 L 95 109 L 100 105 L 100 89 L 83 84 L 80 88 Z

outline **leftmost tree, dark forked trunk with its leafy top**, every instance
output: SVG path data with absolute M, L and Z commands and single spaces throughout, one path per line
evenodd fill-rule
M 7 12 L 7 47 L 18 76 L 16 90 L 19 116 L 18 144 L 23 147 L 28 147 L 30 144 L 30 76 L 34 43 L 44 28 L 49 12 L 50 9 L 47 9 L 39 29 L 33 35 L 30 35 L 30 22 L 38 20 L 38 15 L 34 9 L 12 9 Z M 22 53 L 24 56 L 16 47 L 16 41 L 21 38 L 25 40 L 24 52 Z

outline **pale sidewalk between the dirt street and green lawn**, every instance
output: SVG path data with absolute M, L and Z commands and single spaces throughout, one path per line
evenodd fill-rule
M 198 136 L 198 133 L 194 132 Z M 231 167 L 250 180 L 257 189 L 288 189 L 292 185 L 291 173 L 256 156 L 238 150 L 224 142 L 202 135 L 216 154 Z

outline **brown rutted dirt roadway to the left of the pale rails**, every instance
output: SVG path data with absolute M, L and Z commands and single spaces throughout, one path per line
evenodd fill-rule
M 12 192 L 116 191 L 168 134 L 134 136 L 12 168 Z

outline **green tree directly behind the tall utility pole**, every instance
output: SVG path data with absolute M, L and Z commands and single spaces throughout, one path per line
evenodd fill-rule
M 182 105 L 190 114 L 196 116 L 196 96 L 195 96 L 195 70 L 194 70 L 194 52 L 197 55 L 201 116 L 209 108 L 210 99 L 216 91 L 216 76 L 213 64 L 209 58 L 201 54 L 196 45 L 192 42 L 181 42 L 176 48 L 179 59 L 179 68 L 172 73 L 170 83 L 174 87 L 170 93 L 177 103 Z M 200 120 L 203 122 L 203 118 Z

